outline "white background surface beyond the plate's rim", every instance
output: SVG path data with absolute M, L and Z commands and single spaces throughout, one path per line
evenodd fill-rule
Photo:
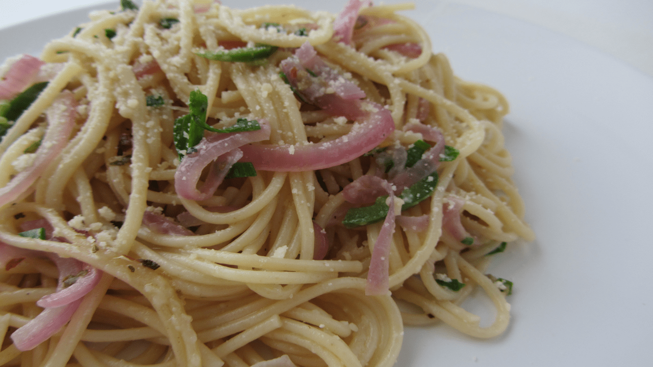
M 386 2 L 398 2 L 387 0 Z M 98 0 L 0 0 L 0 28 Z M 338 2 L 344 3 L 344 0 Z M 242 1 L 224 0 L 227 6 Z M 302 1 L 296 1 L 302 3 Z M 336 1 L 334 1 L 336 3 Z M 547 27 L 607 52 L 653 76 L 651 0 L 432 0 L 434 7 L 465 4 Z

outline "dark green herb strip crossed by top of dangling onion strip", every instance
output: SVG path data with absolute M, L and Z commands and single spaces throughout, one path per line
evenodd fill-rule
M 399 195 L 400 199 L 404 200 L 402 211 L 419 204 L 422 200 L 431 196 L 433 191 L 438 185 L 438 172 L 422 178 L 411 187 L 404 189 Z M 360 227 L 362 225 L 369 225 L 377 223 L 385 219 L 388 214 L 389 206 L 385 204 L 387 195 L 376 199 L 374 204 L 370 206 L 363 206 L 361 208 L 351 208 L 347 210 L 345 219 L 342 221 L 343 225 L 347 228 Z

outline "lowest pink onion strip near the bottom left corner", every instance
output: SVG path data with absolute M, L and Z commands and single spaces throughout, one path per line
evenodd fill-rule
M 48 340 L 59 328 L 70 321 L 72 314 L 77 310 L 81 299 L 75 300 L 65 306 L 46 308 L 37 317 L 18 328 L 11 334 L 16 349 L 29 351 L 40 343 Z

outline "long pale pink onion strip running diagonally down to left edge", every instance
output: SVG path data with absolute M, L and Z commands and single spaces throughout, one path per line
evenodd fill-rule
M 50 126 L 36 152 L 34 163 L 16 174 L 5 187 L 0 188 L 0 207 L 18 200 L 29 192 L 33 183 L 52 163 L 54 157 L 65 148 L 77 117 L 76 104 L 72 92 L 65 90 L 48 108 L 46 115 Z

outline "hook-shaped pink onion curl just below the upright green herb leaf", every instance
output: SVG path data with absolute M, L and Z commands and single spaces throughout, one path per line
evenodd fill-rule
M 229 172 L 229 168 L 240 159 L 241 153 L 237 148 L 250 142 L 270 138 L 270 125 L 267 121 L 259 120 L 259 125 L 261 130 L 214 134 L 202 138 L 202 141 L 195 146 L 197 152 L 185 155 L 174 174 L 174 188 L 177 195 L 189 200 L 210 198 Z M 197 183 L 202 170 L 214 161 L 210 178 L 202 189 L 198 190 Z

